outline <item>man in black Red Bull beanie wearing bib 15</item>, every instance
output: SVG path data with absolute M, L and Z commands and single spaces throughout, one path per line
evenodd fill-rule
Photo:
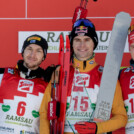
M 95 62 L 94 50 L 98 45 L 98 37 L 93 23 L 88 19 L 77 20 L 69 37 L 72 65 L 64 134 L 98 134 L 124 127 L 127 123 L 127 114 L 119 82 L 113 100 L 112 117 L 104 122 L 93 121 L 103 71 L 103 67 Z M 47 105 L 45 101 L 44 104 Z M 41 107 L 45 113 L 45 108 Z M 41 124 L 44 122 L 42 118 Z M 40 132 L 46 134 L 43 126 Z

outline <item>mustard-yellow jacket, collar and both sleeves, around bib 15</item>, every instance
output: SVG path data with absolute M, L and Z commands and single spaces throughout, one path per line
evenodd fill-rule
M 90 71 L 98 65 L 93 58 L 87 61 L 86 68 L 83 70 L 83 63 L 81 62 L 82 61 L 78 61 L 77 59 L 75 59 L 73 64 L 74 68 L 77 65 L 79 65 L 80 72 Z M 92 62 L 93 64 L 88 64 L 89 62 Z M 50 84 L 45 91 L 42 105 L 40 108 L 40 134 L 50 134 L 49 121 L 47 120 L 47 104 L 51 99 L 50 97 L 51 89 L 49 88 L 51 88 Z M 123 102 L 122 92 L 121 92 L 121 87 L 119 82 L 117 82 L 116 85 L 111 114 L 112 117 L 109 120 L 97 123 L 97 127 L 98 127 L 97 134 L 115 131 L 121 127 L 124 127 L 127 123 L 127 113 L 124 107 L 124 102 Z M 73 133 L 66 132 L 64 134 L 73 134 Z

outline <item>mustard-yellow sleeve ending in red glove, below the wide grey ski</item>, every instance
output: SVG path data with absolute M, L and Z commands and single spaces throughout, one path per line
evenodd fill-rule
M 116 85 L 111 114 L 112 117 L 109 120 L 97 123 L 97 134 L 115 131 L 121 127 L 125 127 L 127 123 L 127 113 L 124 107 L 119 81 Z

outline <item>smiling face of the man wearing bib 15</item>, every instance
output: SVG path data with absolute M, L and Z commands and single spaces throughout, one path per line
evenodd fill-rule
M 73 39 L 73 50 L 77 59 L 87 60 L 93 55 L 94 42 L 88 36 L 76 36 Z

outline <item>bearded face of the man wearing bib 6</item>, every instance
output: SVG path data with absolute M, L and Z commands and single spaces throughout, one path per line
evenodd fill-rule
M 43 49 L 36 44 L 27 46 L 23 53 L 24 66 L 30 70 L 35 70 L 44 60 Z

